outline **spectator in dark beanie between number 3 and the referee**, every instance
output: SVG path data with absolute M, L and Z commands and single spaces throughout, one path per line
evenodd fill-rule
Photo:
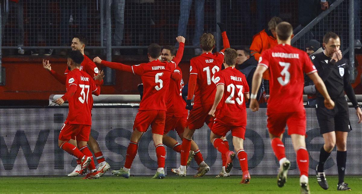
M 306 52 L 311 57 L 311 59 L 314 59 L 314 56 L 312 55 L 323 52 L 323 49 L 320 46 L 320 42 L 318 42 L 317 40 L 310 40 L 306 44 Z M 317 91 L 315 89 L 313 81 L 308 76 L 304 76 L 304 93 L 308 96 L 307 107 L 316 108 L 316 92 Z

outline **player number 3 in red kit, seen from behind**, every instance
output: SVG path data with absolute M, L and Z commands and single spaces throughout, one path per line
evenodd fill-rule
M 290 166 L 286 159 L 284 144 L 281 141 L 285 125 L 291 136 L 300 170 L 301 193 L 310 193 L 308 184 L 309 156 L 306 150 L 306 112 L 303 107 L 303 86 L 306 73 L 315 83 L 316 89 L 324 96 L 325 107 L 332 109 L 334 102 L 329 96 L 322 79 L 306 52 L 290 46 L 293 28 L 288 22 L 277 25 L 278 45 L 265 50 L 253 76 L 250 109 L 257 111 L 259 104 L 256 92 L 261 83 L 262 74 L 270 74 L 270 98 L 268 99 L 268 128 L 271 147 L 279 160 L 278 186 L 284 186 Z

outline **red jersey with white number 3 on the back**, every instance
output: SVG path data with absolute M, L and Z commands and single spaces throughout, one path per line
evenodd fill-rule
M 259 65 L 269 69 L 268 112 L 303 111 L 304 74 L 317 72 L 306 52 L 288 44 L 265 50 Z

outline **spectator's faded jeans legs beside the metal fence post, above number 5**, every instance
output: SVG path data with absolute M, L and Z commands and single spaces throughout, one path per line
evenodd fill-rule
M 115 29 L 113 34 L 113 42 L 115 46 L 121 46 L 123 40 L 123 31 L 125 29 L 125 3 L 126 0 L 110 0 L 109 3 L 113 8 L 113 17 L 115 20 Z M 106 15 L 106 7 L 104 6 L 104 15 Z M 103 20 L 103 29 L 106 28 L 106 20 Z M 106 33 L 103 33 L 103 44 L 107 41 Z M 113 55 L 121 55 L 119 48 L 113 49 Z

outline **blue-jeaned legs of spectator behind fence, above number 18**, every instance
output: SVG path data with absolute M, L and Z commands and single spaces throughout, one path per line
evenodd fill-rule
M 190 10 L 193 0 L 182 0 L 180 2 L 180 19 L 178 20 L 178 36 L 186 36 L 187 24 L 189 22 Z M 204 27 L 204 6 L 205 0 L 195 0 L 195 31 L 192 39 L 193 46 L 200 46 L 200 37 L 203 34 Z M 176 43 L 176 47 L 178 44 Z M 201 48 L 195 48 L 195 55 L 201 55 Z

